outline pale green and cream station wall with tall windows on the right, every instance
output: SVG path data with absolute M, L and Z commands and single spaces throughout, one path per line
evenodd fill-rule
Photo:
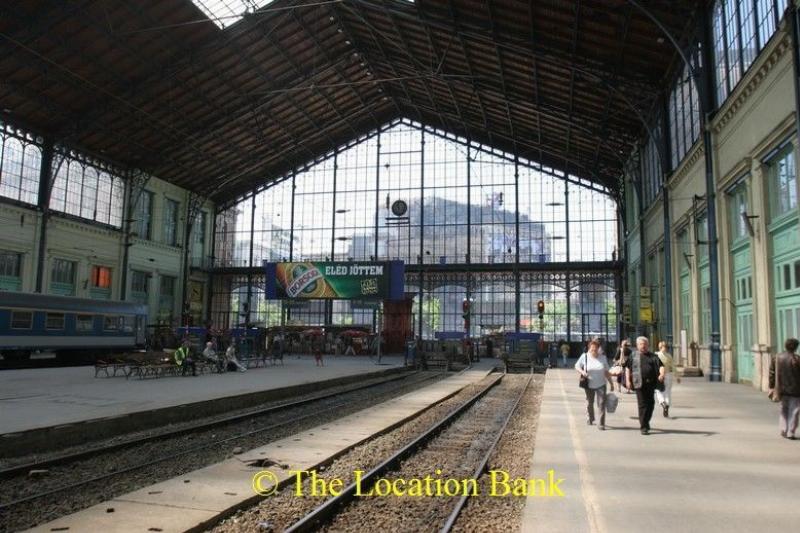
M 691 60 L 709 61 L 713 73 L 707 127 L 719 302 L 711 301 L 709 246 L 715 236 L 707 220 L 699 95 L 686 68 L 654 112 L 654 138 L 642 143 L 626 175 L 627 332 L 673 340 L 683 364 L 708 373 L 711 307 L 718 305 L 722 377 L 759 389 L 767 387 L 770 355 L 783 350 L 786 338 L 800 336 L 798 48 L 792 35 L 796 11 L 787 10 L 789 4 L 717 1 L 707 18 L 708 53 L 689 49 Z M 666 152 L 666 171 L 656 145 Z M 651 304 L 652 317 L 637 312 L 643 301 Z

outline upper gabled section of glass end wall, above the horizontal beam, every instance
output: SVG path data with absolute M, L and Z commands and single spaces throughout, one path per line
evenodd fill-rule
M 224 209 L 215 241 L 218 267 L 610 261 L 617 209 L 587 180 L 403 121 Z

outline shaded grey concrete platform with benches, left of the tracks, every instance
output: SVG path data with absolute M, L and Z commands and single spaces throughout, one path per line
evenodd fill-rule
M 93 367 L 41 368 L 0 372 L 0 434 L 117 416 L 291 385 L 367 374 L 402 365 L 402 357 L 287 356 L 284 365 L 247 372 L 126 380 L 95 378 Z

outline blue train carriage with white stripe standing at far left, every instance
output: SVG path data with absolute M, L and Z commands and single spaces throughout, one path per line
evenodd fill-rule
M 147 308 L 131 302 L 0 291 L 0 353 L 26 360 L 52 351 L 61 360 L 91 361 L 143 348 Z

